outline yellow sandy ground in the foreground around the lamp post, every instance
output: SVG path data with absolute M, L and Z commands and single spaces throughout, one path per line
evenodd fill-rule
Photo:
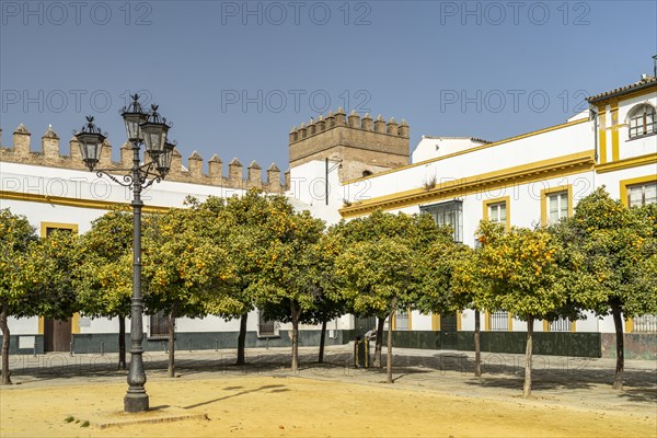
M 629 401 L 608 385 L 569 390 L 539 378 L 534 397 L 522 400 L 514 376 L 474 384 L 471 376 L 459 372 L 428 372 L 414 380 L 410 370 L 408 378 L 397 373 L 392 385 L 380 383 L 377 371 L 315 369 L 292 376 L 283 369 L 251 374 L 183 370 L 176 379 L 152 371 L 147 383 L 152 407 L 176 406 L 208 419 L 107 429 L 81 424 L 119 415 L 123 376 L 18 377 L 14 382 L 22 384 L 0 389 L 0 436 L 657 437 L 653 389 L 650 396 Z M 653 371 L 646 376 L 652 380 Z M 66 423 L 69 416 L 80 423 Z

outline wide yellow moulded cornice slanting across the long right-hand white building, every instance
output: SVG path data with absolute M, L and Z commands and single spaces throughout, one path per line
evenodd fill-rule
M 544 181 L 550 177 L 567 176 L 593 169 L 593 150 L 535 161 L 528 164 L 502 169 L 438 184 L 435 188 L 413 188 L 359 203 L 339 210 L 344 218 L 367 215 L 378 208 L 399 209 L 438 199 L 481 194 L 486 189 L 511 187 L 512 184 Z

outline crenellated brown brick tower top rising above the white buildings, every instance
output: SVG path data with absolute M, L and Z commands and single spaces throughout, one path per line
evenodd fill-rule
M 355 111 L 347 117 L 341 107 L 335 114 L 320 115 L 308 125 L 296 126 L 289 136 L 290 168 L 313 160 L 342 160 L 341 182 L 356 180 L 410 163 L 408 124 L 394 118 L 388 123 L 369 113 Z

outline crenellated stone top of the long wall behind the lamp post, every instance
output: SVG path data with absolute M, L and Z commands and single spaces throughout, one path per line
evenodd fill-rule
M 59 136 L 49 126 L 42 136 L 41 151 L 31 150 L 32 134 L 21 124 L 13 132 L 12 146 L 4 147 L 2 142 L 2 129 L 0 129 L 0 162 L 13 162 L 47 168 L 61 168 L 87 171 L 82 162 L 80 146 L 76 138 L 69 140 L 68 150 L 61 150 Z M 119 150 L 120 161 L 112 161 L 112 145 L 105 142 L 101 150 L 99 169 L 120 170 L 132 165 L 132 149 L 129 143 L 124 143 Z M 280 181 L 280 170 L 274 163 L 267 168 L 266 180 L 263 181 L 262 168 L 253 161 L 247 168 L 244 177 L 243 166 L 235 158 L 228 164 L 228 175 L 224 176 L 222 161 L 218 154 L 208 161 L 207 173 L 203 172 L 204 160 L 197 151 L 192 152 L 187 159 L 187 168 L 183 168 L 183 155 L 177 149 L 174 150 L 171 170 L 166 181 L 180 183 L 214 185 L 227 188 L 251 188 L 258 187 L 269 193 L 283 193 L 285 185 Z

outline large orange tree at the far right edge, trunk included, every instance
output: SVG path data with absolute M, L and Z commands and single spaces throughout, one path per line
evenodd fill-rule
M 614 389 L 622 389 L 623 320 L 657 313 L 657 207 L 627 209 L 604 187 L 583 198 L 574 217 L 553 232 L 566 249 L 564 266 L 574 301 L 615 327 Z

